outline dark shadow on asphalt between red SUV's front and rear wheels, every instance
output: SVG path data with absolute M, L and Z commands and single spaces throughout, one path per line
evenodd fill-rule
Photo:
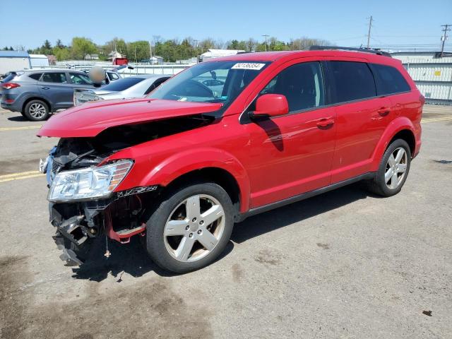
M 307 220 L 321 213 L 335 210 L 336 208 L 360 199 L 365 199 L 369 196 L 379 198 L 362 189 L 359 183 L 335 189 L 334 191 L 314 196 L 304 201 L 292 203 L 247 218 L 243 222 L 235 225 L 231 240 L 237 244 L 241 244 L 261 234 L 272 232 L 278 228 L 291 225 L 294 222 Z

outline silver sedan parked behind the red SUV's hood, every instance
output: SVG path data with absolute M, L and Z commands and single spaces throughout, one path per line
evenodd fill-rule
M 76 88 L 73 91 L 73 104 L 78 106 L 88 101 L 143 97 L 169 78 L 171 76 L 165 74 L 130 76 L 94 90 Z

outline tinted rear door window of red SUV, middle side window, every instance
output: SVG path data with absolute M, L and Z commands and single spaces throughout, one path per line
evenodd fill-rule
M 335 83 L 335 103 L 376 96 L 374 76 L 364 62 L 329 61 Z

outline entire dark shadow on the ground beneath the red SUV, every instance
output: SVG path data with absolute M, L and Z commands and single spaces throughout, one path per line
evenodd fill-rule
M 261 234 L 272 232 L 294 222 L 307 220 L 315 215 L 335 210 L 368 196 L 377 197 L 364 191 L 359 184 L 354 184 L 250 217 L 235 225 L 231 237 L 232 242 L 229 242 L 226 250 L 217 261 L 227 256 L 234 249 L 233 242 L 238 244 L 246 242 L 246 240 L 258 237 Z M 150 271 L 154 271 L 157 275 L 163 277 L 177 275 L 155 265 L 148 257 L 141 244 L 141 239 L 138 239 L 138 237 L 133 237 L 129 244 L 119 244 L 110 240 L 108 247 L 112 255 L 109 258 L 104 256 L 105 239 L 99 239 L 99 241 L 100 244 L 94 246 L 90 259 L 82 266 L 73 268 L 73 278 L 100 282 L 112 275 L 117 278 L 118 283 L 121 283 L 123 273 L 128 273 L 135 278 Z

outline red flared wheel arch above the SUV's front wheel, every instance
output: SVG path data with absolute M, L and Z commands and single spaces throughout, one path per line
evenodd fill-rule
M 224 169 L 234 177 L 240 191 L 240 211 L 248 210 L 250 196 L 248 174 L 237 158 L 217 148 L 196 148 L 175 153 L 153 166 L 141 179 L 140 186 L 167 186 L 183 174 L 206 167 Z

